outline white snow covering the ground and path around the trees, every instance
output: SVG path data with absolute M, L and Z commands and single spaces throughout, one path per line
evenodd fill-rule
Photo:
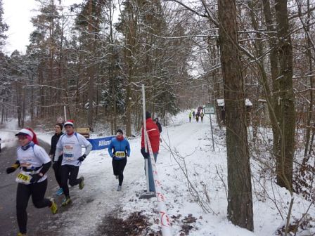
M 218 129 L 213 117 L 212 125 L 214 151 L 209 115 L 203 123 L 189 123 L 188 112 L 181 112 L 173 117 L 171 124 L 163 127 L 157 166 L 167 211 L 172 219 L 172 235 L 184 232 L 185 225 L 193 227 L 189 235 L 194 236 L 275 235 L 285 221 L 291 197 L 288 191 L 274 184 L 274 179 L 259 178 L 259 167 L 254 161 L 255 231 L 239 228 L 227 220 L 225 133 Z M 38 136 L 47 143 L 51 141 L 51 133 L 39 133 Z M 93 235 L 103 218 L 113 212 L 118 217 L 127 218 L 132 212 L 141 211 L 153 224 L 153 230 L 160 229 L 156 198 L 139 199 L 146 190 L 140 140 L 141 137 L 129 140 L 131 156 L 124 170 L 122 192 L 116 191 L 118 181 L 113 176 L 108 151 L 90 153 L 79 170 L 79 176 L 84 176 L 84 189 L 70 188 L 73 204 L 53 216 L 51 227 L 56 228 L 59 235 Z M 300 218 L 307 211 L 309 202 L 297 195 L 294 197 L 293 216 Z M 315 217 L 314 208 L 309 214 Z M 315 232 L 309 235 L 311 233 Z

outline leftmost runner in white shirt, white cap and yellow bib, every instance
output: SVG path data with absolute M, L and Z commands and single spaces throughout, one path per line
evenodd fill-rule
M 18 137 L 20 147 L 17 150 L 15 164 L 6 169 L 6 173 L 12 173 L 19 169 L 15 179 L 18 182 L 16 192 L 16 216 L 18 218 L 18 236 L 27 233 L 27 204 L 32 196 L 35 207 L 50 207 L 51 212 L 56 214 L 58 207 L 53 199 L 44 198 L 47 188 L 46 172 L 51 166 L 51 159 L 43 147 L 37 145 L 36 134 L 32 129 L 21 129 L 15 136 Z

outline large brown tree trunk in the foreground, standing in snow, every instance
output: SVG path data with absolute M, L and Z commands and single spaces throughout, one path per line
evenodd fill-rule
M 219 0 L 219 44 L 226 106 L 228 159 L 228 218 L 248 230 L 254 229 L 250 157 L 246 130 L 244 81 L 236 25 L 236 2 Z

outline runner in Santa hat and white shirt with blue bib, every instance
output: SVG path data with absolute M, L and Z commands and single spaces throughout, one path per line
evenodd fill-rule
M 84 136 L 75 132 L 72 120 L 65 122 L 63 126 L 65 127 L 65 134 L 59 138 L 56 145 L 55 160 L 63 152 L 61 187 L 63 188 L 65 199 L 61 205 L 67 206 L 72 202 L 69 194 L 68 179 L 71 186 L 79 185 L 80 190 L 84 188 L 84 177 L 77 178 L 77 174 L 79 173 L 79 166 L 91 152 L 92 145 Z M 82 146 L 86 148 L 84 155 L 82 155 Z

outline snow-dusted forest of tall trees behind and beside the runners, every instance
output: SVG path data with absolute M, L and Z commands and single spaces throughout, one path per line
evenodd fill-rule
M 233 223 L 252 230 L 253 156 L 292 196 L 314 203 L 313 0 L 39 3 L 26 52 L 5 55 L 0 0 L 1 123 L 51 126 L 66 107 L 79 126 L 131 136 L 141 129 L 145 84 L 146 107 L 164 125 L 179 110 L 216 107 Z M 257 138 L 262 126 L 272 138 Z

